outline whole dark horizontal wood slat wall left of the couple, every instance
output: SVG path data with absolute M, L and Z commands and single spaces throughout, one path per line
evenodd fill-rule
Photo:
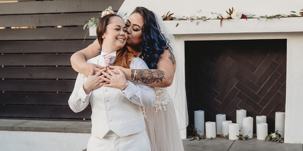
M 123 0 L 21 1 L 0 4 L 0 118 L 90 119 L 90 105 L 80 113 L 68 106 L 77 72 L 72 53 L 91 44 L 83 25 Z M 61 25 L 61 28 L 56 26 Z M 26 27 L 11 29 L 10 27 Z M 85 38 L 85 40 L 84 40 Z

